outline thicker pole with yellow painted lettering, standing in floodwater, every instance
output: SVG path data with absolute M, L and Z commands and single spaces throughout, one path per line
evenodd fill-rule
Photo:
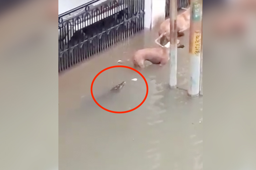
M 198 97 L 201 89 L 202 0 L 191 0 L 190 8 L 190 83 L 188 95 Z

